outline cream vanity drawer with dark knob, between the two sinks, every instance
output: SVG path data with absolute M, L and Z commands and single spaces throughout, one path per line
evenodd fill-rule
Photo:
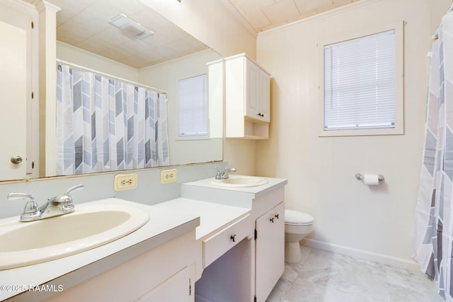
M 222 228 L 221 231 L 203 240 L 203 267 L 210 265 L 243 238 L 252 236 L 251 234 L 251 216 L 247 214 L 239 221 Z

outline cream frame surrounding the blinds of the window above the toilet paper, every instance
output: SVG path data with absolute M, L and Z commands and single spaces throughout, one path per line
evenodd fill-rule
M 320 125 L 319 137 L 351 137 L 365 135 L 401 135 L 404 134 L 404 23 L 383 25 L 379 28 L 370 28 L 361 33 L 354 33 L 328 40 L 319 44 L 319 63 L 321 66 L 319 79 L 319 100 L 320 100 Z M 354 40 L 367 35 L 383 33 L 394 30 L 395 35 L 395 127 L 393 128 L 372 128 L 372 129 L 324 129 L 324 47 L 338 42 Z

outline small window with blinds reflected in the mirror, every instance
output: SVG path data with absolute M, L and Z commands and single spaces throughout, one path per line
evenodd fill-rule
M 207 136 L 207 74 L 178 81 L 178 137 Z

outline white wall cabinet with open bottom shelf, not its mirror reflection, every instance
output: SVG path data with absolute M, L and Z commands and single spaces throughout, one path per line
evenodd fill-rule
M 268 139 L 270 74 L 245 54 L 225 59 L 226 137 Z

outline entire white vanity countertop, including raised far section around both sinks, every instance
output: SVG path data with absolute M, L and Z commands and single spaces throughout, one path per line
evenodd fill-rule
M 188 231 L 193 231 L 194 228 L 196 237 L 194 240 L 206 238 L 220 228 L 239 221 L 250 213 L 250 202 L 242 201 L 258 198 L 287 183 L 287 180 L 280 178 L 266 178 L 267 184 L 256 187 L 218 187 L 212 183 L 212 179 L 182 184 L 181 197 L 153 205 L 129 202 L 114 197 L 86 202 L 84 206 L 127 204 L 139 207 L 149 213 L 149 221 L 137 231 L 92 250 L 37 265 L 0 270 L 0 285 L 22 286 L 23 289 L 26 289 L 28 286 L 37 286 L 64 275 L 68 276 L 69 273 L 81 268 L 88 272 L 84 271 L 81 274 L 86 274 L 86 279 L 89 279 L 96 276 L 99 270 L 105 271 L 113 268 L 146 250 L 156 248 Z M 190 195 L 200 198 L 188 197 Z M 223 199 L 231 200 L 231 197 L 239 202 L 232 204 L 223 202 Z M 11 221 L 11 219 L 18 219 L 18 216 L 0 219 L 0 223 Z M 100 260 L 103 261 L 102 264 Z M 76 281 L 81 282 L 84 279 Z M 0 301 L 21 293 L 21 291 L 4 289 L 8 289 L 8 287 L 2 287 L 0 290 Z M 20 299 L 19 296 L 17 298 Z

